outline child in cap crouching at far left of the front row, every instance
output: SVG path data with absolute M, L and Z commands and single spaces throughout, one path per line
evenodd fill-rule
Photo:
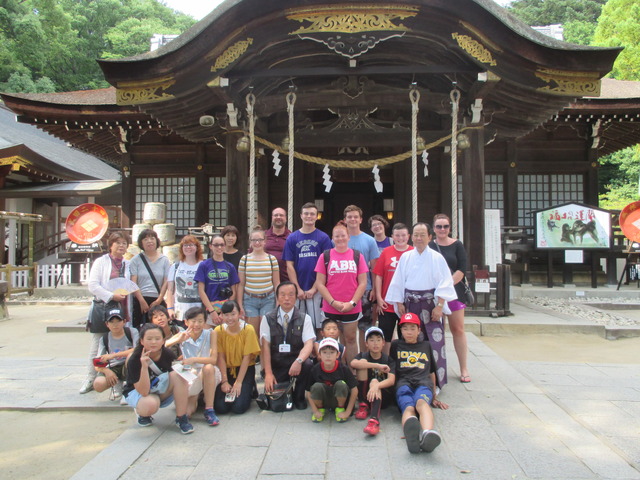
M 122 383 L 126 375 L 124 363 L 138 342 L 138 331 L 124 326 L 124 313 L 121 308 L 113 308 L 107 314 L 109 331 L 100 339 L 98 357 L 94 360 L 98 376 L 93 381 L 96 392 L 113 388 L 112 400 L 122 397 Z

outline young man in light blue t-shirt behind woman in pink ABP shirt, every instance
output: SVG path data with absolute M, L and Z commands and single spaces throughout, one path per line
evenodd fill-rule
M 360 230 L 362 224 L 362 209 L 356 205 L 348 205 L 344 209 L 344 221 L 349 230 L 349 248 L 359 250 L 364 256 L 369 273 L 367 273 L 367 289 L 362 296 L 362 317 L 358 322 L 360 329 L 360 345 L 365 345 L 364 332 L 372 326 L 372 305 L 376 300 L 376 292 L 371 282 L 371 271 L 376 266 L 376 261 L 380 257 L 378 244 L 371 235 L 367 235 Z

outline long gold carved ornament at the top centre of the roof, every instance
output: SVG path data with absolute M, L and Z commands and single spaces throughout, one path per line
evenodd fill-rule
M 308 33 L 359 33 L 376 31 L 408 31 L 397 19 L 415 17 L 417 7 L 397 5 L 353 5 L 350 7 L 296 9 L 287 12 L 288 20 L 310 22 L 290 35 Z

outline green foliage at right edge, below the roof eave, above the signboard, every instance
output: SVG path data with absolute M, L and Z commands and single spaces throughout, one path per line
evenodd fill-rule
M 600 159 L 600 206 L 621 210 L 640 199 L 640 145 Z

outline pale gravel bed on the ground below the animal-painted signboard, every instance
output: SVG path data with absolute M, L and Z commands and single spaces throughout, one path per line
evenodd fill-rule
M 579 318 L 581 320 L 589 320 L 597 323 L 598 325 L 606 325 L 608 327 L 633 327 L 640 326 L 640 303 L 638 299 L 632 298 L 547 298 L 547 297 L 523 297 L 520 299 L 523 302 L 537 305 L 539 307 L 548 308 L 554 312 L 559 312 L 565 315 Z M 591 304 L 598 304 L 595 307 Z M 636 308 L 630 308 L 628 310 L 612 310 L 602 308 L 601 304 L 632 304 Z

